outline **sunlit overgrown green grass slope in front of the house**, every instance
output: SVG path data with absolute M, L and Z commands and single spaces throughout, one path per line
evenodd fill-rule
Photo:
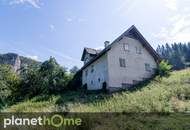
M 6 112 L 184 112 L 190 111 L 190 70 L 155 77 L 134 91 L 113 94 L 67 92 L 39 96 L 4 109 Z

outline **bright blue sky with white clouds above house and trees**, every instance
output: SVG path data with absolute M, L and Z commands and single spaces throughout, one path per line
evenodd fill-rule
M 102 48 L 136 25 L 156 48 L 190 41 L 189 0 L 0 0 L 0 53 L 82 66 L 84 47 Z

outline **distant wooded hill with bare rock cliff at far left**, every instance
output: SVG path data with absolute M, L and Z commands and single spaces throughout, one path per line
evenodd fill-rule
M 16 53 L 0 54 L 0 64 L 12 65 L 15 71 L 19 71 L 24 66 L 37 67 L 41 62 L 19 56 Z

